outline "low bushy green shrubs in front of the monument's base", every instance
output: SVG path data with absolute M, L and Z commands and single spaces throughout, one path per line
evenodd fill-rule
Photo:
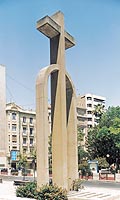
M 38 200 L 68 200 L 67 191 L 57 185 L 43 185 L 37 191 L 37 183 L 31 182 L 16 189 L 17 197 L 34 198 Z

